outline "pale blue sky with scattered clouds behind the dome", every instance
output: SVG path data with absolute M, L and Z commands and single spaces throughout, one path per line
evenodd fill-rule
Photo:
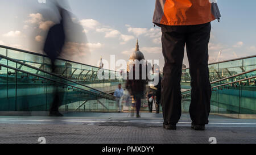
M 0 44 L 40 52 L 47 27 L 57 22 L 56 12 L 37 0 L 2 0 L 0 6 Z M 256 1 L 218 0 L 221 21 L 212 22 L 209 62 L 255 55 Z M 81 24 L 86 39 L 70 43 L 75 61 L 97 65 L 102 58 L 127 60 L 137 38 L 147 60 L 164 65 L 160 28 L 153 27 L 155 0 L 69 0 L 67 9 L 73 21 Z M 48 14 L 46 14 L 46 12 Z M 77 51 L 74 47 L 78 47 Z M 81 53 L 84 51 L 84 53 Z M 76 55 L 76 56 L 75 56 Z M 184 64 L 188 64 L 187 55 Z

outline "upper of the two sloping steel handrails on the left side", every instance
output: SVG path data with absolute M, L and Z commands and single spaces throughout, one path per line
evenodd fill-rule
M 45 71 L 45 70 L 42 70 L 42 69 L 36 68 L 36 67 L 34 67 L 34 66 L 31 66 L 31 65 L 25 64 L 25 63 L 23 63 L 23 62 L 20 62 L 20 61 L 14 60 L 13 58 L 6 57 L 6 56 L 3 56 L 3 55 L 0 55 L 0 57 L 5 58 L 6 60 L 13 61 L 13 62 L 18 63 L 18 64 L 21 64 L 21 65 L 23 65 L 23 66 L 27 66 L 27 67 L 29 67 L 29 68 L 32 68 L 32 69 L 38 70 L 38 71 L 40 71 L 40 72 L 43 72 L 43 73 L 49 74 L 49 75 L 51 75 L 51 76 L 55 76 L 55 77 L 58 77 L 58 78 L 65 79 L 65 80 L 67 80 L 68 82 L 73 82 L 73 83 L 76 83 L 77 85 L 81 85 L 81 86 L 88 87 L 89 89 L 96 90 L 96 91 L 98 91 L 98 92 L 100 92 L 100 93 L 102 93 L 102 94 L 107 94 L 107 93 L 104 93 L 103 91 L 100 91 L 100 90 L 94 89 L 94 88 L 92 88 L 92 87 L 89 87 L 89 86 L 83 85 L 82 83 L 79 83 L 79 82 L 76 82 L 76 81 L 72 81 L 71 79 L 68 79 L 68 78 L 65 78 L 65 77 L 57 76 L 56 74 L 49 73 L 49 72 L 47 72 L 47 71 Z M 110 94 L 108 94 L 108 95 L 109 95 L 109 96 L 111 96 L 111 97 L 113 96 L 113 95 L 110 95 Z M 113 96 L 113 97 L 114 97 L 114 96 Z

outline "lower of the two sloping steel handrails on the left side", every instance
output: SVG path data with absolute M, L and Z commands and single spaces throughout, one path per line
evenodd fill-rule
M 43 77 L 43 76 L 39 76 L 39 75 L 37 75 L 37 74 L 30 73 L 30 72 L 27 72 L 27 71 L 24 71 L 24 70 L 21 70 L 21 69 L 13 68 L 13 67 L 11 67 L 11 66 L 7 66 L 7 65 L 3 65 L 3 64 L 0 64 L 0 66 L 3 66 L 3 67 L 5 67 L 5 68 L 9 68 L 9 69 L 13 69 L 13 70 L 16 70 L 16 71 L 18 71 L 18 72 L 25 73 L 25 74 L 30 74 L 31 76 L 35 76 L 35 77 L 38 77 L 38 78 L 47 79 L 47 80 L 49 80 L 49 81 L 56 82 L 56 83 L 60 83 L 60 84 L 62 84 L 62 85 L 66 85 L 66 86 L 69 86 L 69 87 L 73 87 L 73 88 L 76 88 L 77 90 L 80 89 L 80 90 L 86 91 L 86 92 L 91 93 L 91 94 L 99 95 L 100 97 L 103 97 L 103 98 L 106 98 L 106 99 L 114 100 L 114 98 L 109 98 L 109 97 L 107 97 L 106 95 L 103 95 L 103 94 L 98 94 L 98 93 L 93 92 L 93 91 L 81 89 L 80 87 L 72 86 L 72 85 L 69 85 L 69 84 L 64 83 L 64 82 L 55 81 L 54 79 L 47 78 L 47 77 Z

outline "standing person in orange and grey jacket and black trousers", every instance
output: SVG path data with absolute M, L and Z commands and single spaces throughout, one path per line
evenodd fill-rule
M 186 46 L 191 75 L 192 128 L 208 124 L 212 90 L 208 44 L 211 24 L 220 19 L 216 0 L 156 0 L 153 23 L 162 28 L 165 60 L 162 80 L 163 127 L 176 129 L 181 116 L 181 68 Z

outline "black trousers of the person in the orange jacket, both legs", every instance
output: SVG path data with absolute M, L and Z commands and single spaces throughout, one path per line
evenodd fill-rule
M 162 26 L 165 60 L 162 80 L 162 107 L 165 124 L 176 124 L 181 116 L 181 69 L 186 46 L 191 75 L 189 114 L 193 123 L 208 124 L 210 97 L 208 44 L 210 23 L 195 26 Z

